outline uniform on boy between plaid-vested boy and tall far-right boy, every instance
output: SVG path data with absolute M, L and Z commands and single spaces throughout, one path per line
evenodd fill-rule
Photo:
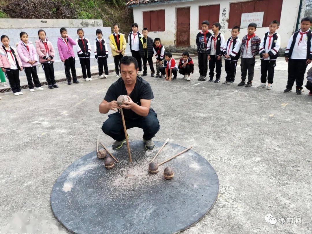
M 270 32 L 264 34 L 260 43 L 260 59 L 261 59 L 261 83 L 266 83 L 266 74 L 269 84 L 273 84 L 274 68 L 276 66 L 276 59 L 280 49 L 280 35 L 276 32 L 270 36 Z M 262 54 L 268 53 L 270 56 L 263 58 Z

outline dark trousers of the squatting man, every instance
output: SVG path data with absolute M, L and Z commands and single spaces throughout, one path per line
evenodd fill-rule
M 124 136 L 124 125 L 120 113 L 117 111 L 114 114 L 108 115 L 108 119 L 102 125 L 102 131 L 116 141 L 122 141 Z M 143 129 L 143 139 L 150 140 L 159 130 L 159 122 L 157 114 L 150 109 L 147 116 L 139 116 L 138 118 L 125 117 L 126 129 L 141 128 Z

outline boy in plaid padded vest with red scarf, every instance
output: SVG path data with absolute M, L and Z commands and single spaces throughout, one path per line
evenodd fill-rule
M 241 82 L 238 86 L 251 87 L 255 71 L 256 55 L 259 53 L 261 39 L 256 36 L 257 25 L 250 23 L 247 35 L 241 41 Z M 248 82 L 246 77 L 248 71 Z

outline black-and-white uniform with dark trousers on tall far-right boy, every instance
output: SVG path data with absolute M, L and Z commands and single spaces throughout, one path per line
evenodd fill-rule
M 295 32 L 289 39 L 285 51 L 288 61 L 287 89 L 291 89 L 296 81 L 296 89 L 302 89 L 307 59 L 312 60 L 312 33 L 311 30 Z

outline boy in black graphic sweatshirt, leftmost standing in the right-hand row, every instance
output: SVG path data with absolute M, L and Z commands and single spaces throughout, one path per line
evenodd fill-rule
M 197 80 L 206 80 L 207 76 L 207 41 L 212 36 L 208 31 L 209 22 L 207 20 L 202 22 L 202 31 L 197 33 L 196 45 L 197 45 L 197 56 L 198 56 L 198 68 L 199 78 Z

